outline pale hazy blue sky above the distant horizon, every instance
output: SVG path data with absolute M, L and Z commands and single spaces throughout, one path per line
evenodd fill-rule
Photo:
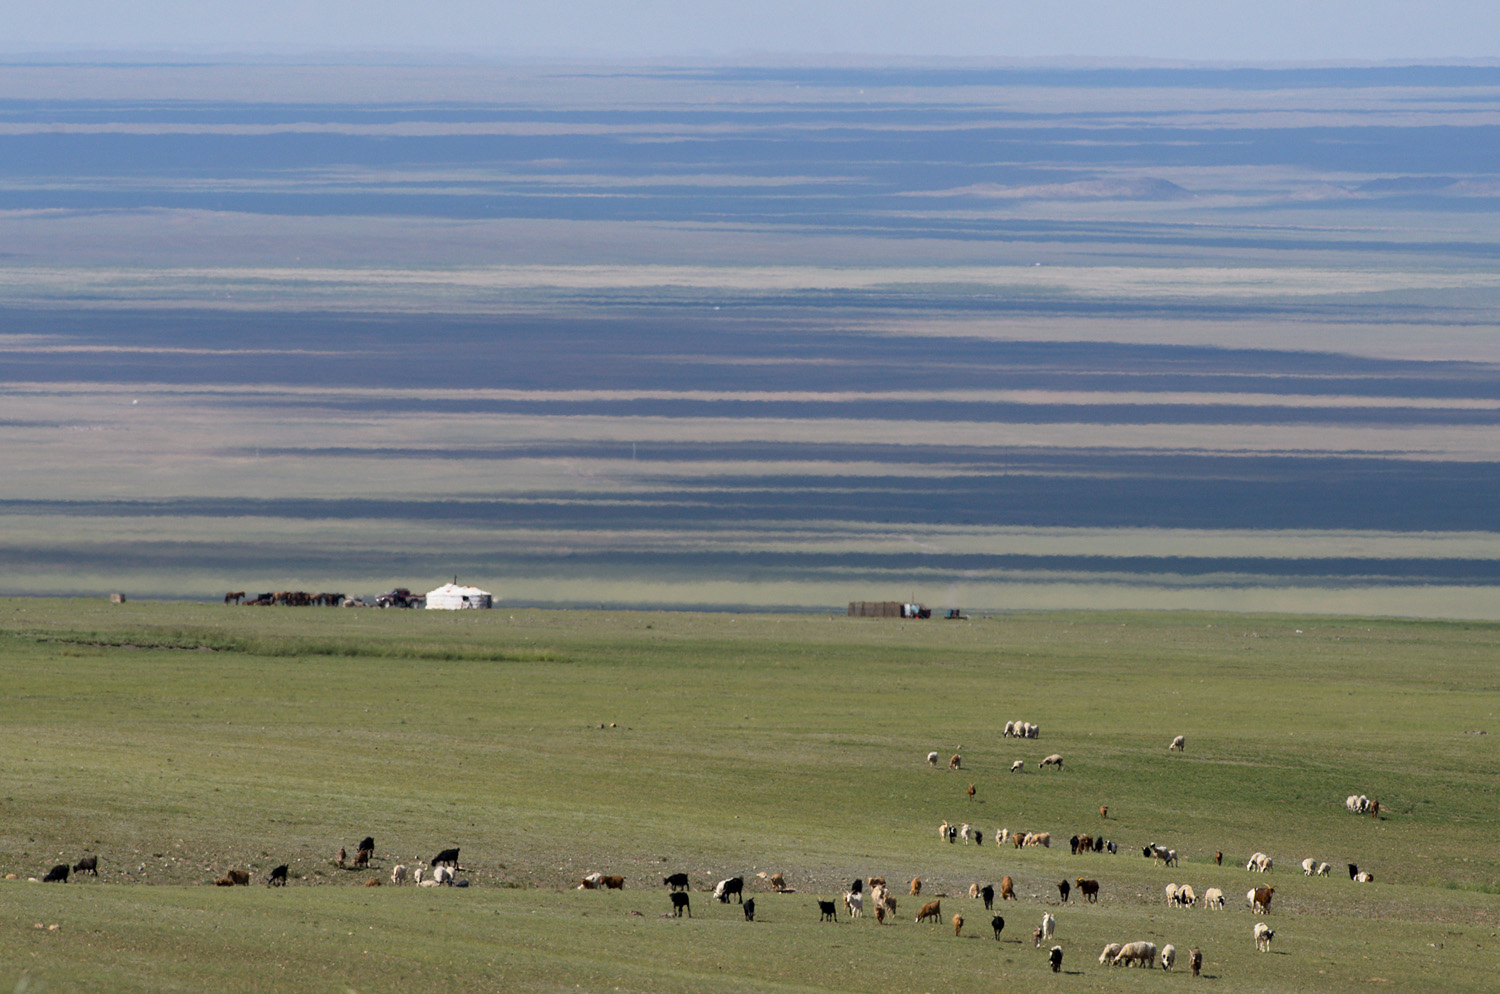
M 874 55 L 1204 63 L 1480 60 L 1492 0 L 51 0 L 0 52 Z

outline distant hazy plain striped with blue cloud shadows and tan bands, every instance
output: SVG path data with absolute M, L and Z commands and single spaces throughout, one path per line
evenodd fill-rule
M 1500 70 L 0 66 L 0 589 L 1500 618 Z

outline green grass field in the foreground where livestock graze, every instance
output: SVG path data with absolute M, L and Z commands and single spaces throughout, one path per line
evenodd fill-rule
M 1486 624 L 1242 615 L 4 600 L 0 873 L 20 879 L 0 882 L 0 990 L 1155 990 L 1191 982 L 1192 946 L 1220 991 L 1490 990 L 1497 643 Z M 1041 738 L 1002 739 L 1017 718 Z M 964 769 L 928 768 L 933 750 Z M 1062 771 L 1036 768 L 1048 753 Z M 1382 819 L 1350 816 L 1350 793 Z M 944 819 L 1056 841 L 948 846 Z M 1071 856 L 1074 832 L 1120 852 Z M 339 870 L 363 835 L 375 868 Z M 450 846 L 474 886 L 390 886 Z M 1272 874 L 1244 870 L 1256 850 Z M 26 882 L 86 853 L 98 880 Z M 1305 879 L 1305 856 L 1334 876 Z M 285 891 L 212 886 L 282 862 Z M 594 870 L 626 891 L 573 889 Z M 692 921 L 663 918 L 678 870 Z M 708 894 L 735 874 L 754 924 Z M 902 882 L 896 924 L 818 921 L 816 898 L 872 874 Z M 1020 900 L 994 942 L 966 891 L 1005 874 Z M 912 924 L 914 876 L 945 895 L 939 927 Z M 1059 906 L 1078 876 L 1100 904 Z M 1168 882 L 1227 909 L 1168 909 Z M 1276 888 L 1269 955 L 1257 885 Z M 1058 976 L 1030 943 L 1044 909 Z M 1176 973 L 1098 966 L 1136 939 L 1174 943 Z

